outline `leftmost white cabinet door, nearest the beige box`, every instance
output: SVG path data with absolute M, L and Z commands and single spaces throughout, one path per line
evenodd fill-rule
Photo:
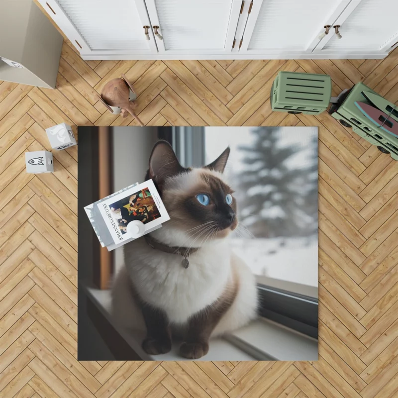
M 82 55 L 157 53 L 143 0 L 38 1 Z

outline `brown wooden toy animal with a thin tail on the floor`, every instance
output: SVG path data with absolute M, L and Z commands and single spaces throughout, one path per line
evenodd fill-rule
M 132 95 L 130 95 L 130 91 Z M 133 86 L 131 86 L 124 75 L 121 75 L 121 78 L 112 79 L 106 83 L 103 86 L 101 95 L 98 97 L 109 112 L 114 114 L 121 113 L 122 117 L 127 117 L 127 114 L 130 113 L 131 116 L 137 119 L 141 126 L 144 125 L 134 112 L 137 106 L 134 100 L 137 98 L 137 95 Z

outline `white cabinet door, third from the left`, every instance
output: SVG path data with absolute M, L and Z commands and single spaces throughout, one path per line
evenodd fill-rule
M 239 52 L 286 54 L 311 52 L 328 21 L 350 0 L 253 0 Z

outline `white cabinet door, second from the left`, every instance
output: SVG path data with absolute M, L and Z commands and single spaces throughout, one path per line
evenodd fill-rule
M 242 0 L 145 0 L 159 53 L 230 52 Z

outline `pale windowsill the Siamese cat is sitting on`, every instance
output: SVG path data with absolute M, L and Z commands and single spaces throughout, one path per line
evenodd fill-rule
M 110 321 L 110 291 L 87 288 L 88 297 Z M 182 361 L 180 342 L 167 354 L 148 355 L 141 348 L 143 335 L 114 326 L 142 360 Z M 201 361 L 317 360 L 318 342 L 292 329 L 259 318 L 231 335 L 210 340 L 209 352 Z

